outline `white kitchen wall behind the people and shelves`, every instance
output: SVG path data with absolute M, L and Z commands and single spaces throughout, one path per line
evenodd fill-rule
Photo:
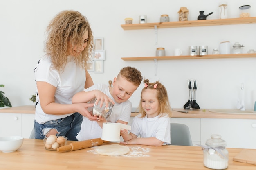
M 230 18 L 239 17 L 238 7 L 251 5 L 256 16 L 255 0 L 227 0 Z M 182 108 L 188 100 L 187 80 L 198 81 L 197 102 L 201 108 L 236 108 L 241 99 L 240 85 L 245 85 L 246 109 L 253 108 L 252 91 L 256 90 L 256 58 L 165 60 L 157 63 L 155 76 L 153 61 L 123 61 L 121 57 L 154 56 L 157 47 L 164 47 L 166 55 L 175 48 L 188 54 L 190 45 L 208 45 L 209 53 L 222 41 L 243 44 L 243 52 L 256 50 L 256 24 L 204 26 L 158 29 L 158 44 L 154 30 L 124 31 L 124 18 L 138 23 L 139 15 L 147 15 L 148 22 L 159 22 L 168 14 L 178 20 L 180 7 L 189 9 L 189 20 L 197 20 L 199 11 L 213 12 L 207 19 L 218 19 L 218 3 L 212 0 L 1 0 L 0 1 L 0 90 L 13 106 L 34 105 L 29 98 L 35 92 L 34 66 L 43 56 L 45 29 L 60 11 L 73 9 L 88 17 L 94 37 L 104 37 L 106 61 L 104 73 L 90 72 L 94 83 L 108 83 L 127 65 L 141 70 L 145 78 L 159 80 L 168 89 L 173 108 Z M 141 85 L 130 98 L 133 107 L 140 99 Z

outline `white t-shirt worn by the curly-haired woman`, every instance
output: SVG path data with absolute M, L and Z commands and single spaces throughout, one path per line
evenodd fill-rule
M 63 72 L 58 72 L 55 69 L 51 68 L 51 59 L 50 57 L 44 56 L 34 69 L 36 81 L 47 82 L 54 87 L 56 87 L 56 92 L 54 94 L 54 100 L 56 103 L 61 104 L 72 104 L 72 97 L 74 94 L 81 92 L 84 89 L 86 75 L 85 69 L 80 68 L 74 62 L 74 57 L 68 56 L 69 61 L 67 62 Z M 36 92 L 38 90 L 36 89 Z M 36 95 L 36 114 L 35 120 L 39 124 L 44 124 L 50 120 L 56 120 L 65 118 L 72 115 L 50 115 L 45 114 L 41 108 L 39 95 Z

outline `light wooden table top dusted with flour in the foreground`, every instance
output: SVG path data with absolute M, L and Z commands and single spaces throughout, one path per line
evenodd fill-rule
M 108 143 L 111 144 L 111 143 Z M 0 151 L 1 170 L 209 170 L 203 165 L 199 146 L 128 145 L 130 153 L 123 156 L 104 156 L 95 146 L 58 153 L 45 150 L 43 140 L 24 139 L 16 152 Z M 229 170 L 256 170 L 256 166 L 233 161 L 242 149 L 227 148 Z

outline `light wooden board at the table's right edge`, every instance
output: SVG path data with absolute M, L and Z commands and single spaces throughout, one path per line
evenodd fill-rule
M 243 149 L 233 158 L 233 161 L 256 165 L 256 150 Z

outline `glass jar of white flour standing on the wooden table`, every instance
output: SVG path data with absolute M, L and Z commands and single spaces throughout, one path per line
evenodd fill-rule
M 229 152 L 221 136 L 211 135 L 211 139 L 207 139 L 205 144 L 208 147 L 204 148 L 204 166 L 216 170 L 226 169 L 229 165 Z

